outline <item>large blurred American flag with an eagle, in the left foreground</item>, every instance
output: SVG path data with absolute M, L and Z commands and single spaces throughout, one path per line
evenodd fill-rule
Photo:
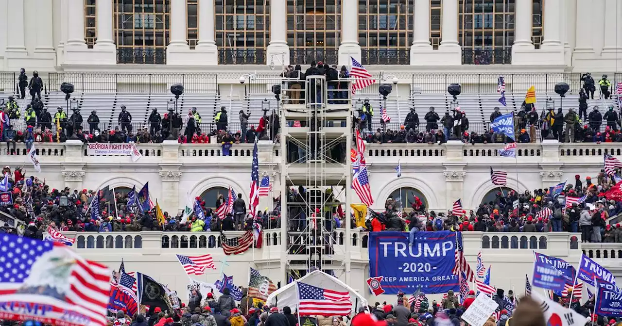
M 9 234 L 0 243 L 0 301 L 23 306 L 6 310 L 2 319 L 106 325 L 110 269 L 60 243 Z M 37 306 L 49 310 L 42 315 L 40 309 L 25 309 Z M 67 315 L 75 319 L 67 322 Z

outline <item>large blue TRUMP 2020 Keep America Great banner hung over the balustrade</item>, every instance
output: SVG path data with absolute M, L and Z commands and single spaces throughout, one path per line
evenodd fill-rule
M 409 246 L 407 232 L 369 233 L 369 277 L 383 276 L 386 294 L 414 291 L 425 294 L 459 291 L 455 266 L 455 244 L 459 232 L 417 232 Z M 462 237 L 458 236 L 462 242 Z

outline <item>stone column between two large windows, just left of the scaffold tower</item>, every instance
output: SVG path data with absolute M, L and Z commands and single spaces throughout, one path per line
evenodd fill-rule
M 343 4 L 341 5 L 343 7 Z M 283 61 L 283 62 L 281 62 Z M 289 47 L 287 46 L 287 2 L 270 2 L 270 43 L 266 50 L 266 65 L 289 65 Z

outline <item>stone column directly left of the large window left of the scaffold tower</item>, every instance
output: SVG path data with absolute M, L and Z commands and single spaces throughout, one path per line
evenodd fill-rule
M 216 47 L 214 0 L 198 1 L 198 43 L 195 51 L 202 52 L 211 65 L 218 65 L 218 47 Z M 208 64 L 206 63 L 206 64 Z

